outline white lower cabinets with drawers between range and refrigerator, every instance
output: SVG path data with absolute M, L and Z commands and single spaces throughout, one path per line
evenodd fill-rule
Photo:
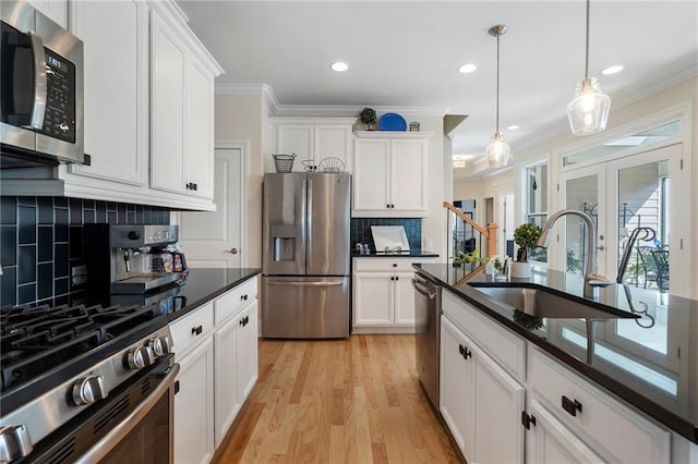
M 257 380 L 257 280 L 248 280 L 170 325 L 180 364 L 176 463 L 210 461 Z

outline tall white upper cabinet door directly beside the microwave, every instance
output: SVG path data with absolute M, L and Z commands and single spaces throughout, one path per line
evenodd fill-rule
M 141 1 L 72 3 L 73 33 L 84 42 L 85 152 L 91 166 L 69 172 L 147 183 L 147 8 Z

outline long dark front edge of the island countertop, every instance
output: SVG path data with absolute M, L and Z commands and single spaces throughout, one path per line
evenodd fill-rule
M 643 413 L 652 417 L 654 420 L 669 427 L 674 432 L 698 444 L 698 424 L 693 424 L 684 419 L 683 417 L 677 416 L 675 413 L 667 411 L 666 408 L 654 403 L 652 400 L 648 399 L 647 396 L 638 393 L 637 391 L 628 388 L 624 383 L 621 383 L 619 381 L 615 380 L 613 377 L 606 376 L 605 374 L 594 369 L 593 367 L 589 366 L 587 363 L 580 361 L 579 358 L 568 353 L 565 353 L 564 351 L 556 347 L 552 343 L 547 343 L 547 341 L 545 341 L 540 337 L 537 337 L 530 330 L 527 330 L 521 326 L 519 326 L 518 323 L 514 322 L 513 320 L 503 317 L 497 312 L 491 309 L 488 306 L 489 302 L 483 301 L 483 300 L 490 300 L 488 296 L 482 295 L 483 300 L 481 300 L 481 296 L 478 295 L 477 293 L 469 294 L 468 292 L 468 290 L 470 290 L 469 286 L 466 289 L 466 292 L 458 290 L 452 286 L 450 284 L 448 284 L 447 282 L 444 282 L 440 278 L 431 274 L 429 271 L 422 269 L 421 266 L 418 264 L 412 265 L 412 268 L 416 269 L 417 272 L 420 273 L 422 277 L 429 279 L 433 283 L 436 283 L 441 286 L 448 289 L 452 293 L 459 296 L 466 303 L 480 309 L 482 313 L 484 313 L 486 316 L 494 319 L 496 322 L 500 322 L 502 326 L 505 326 L 507 329 L 525 338 L 527 341 L 532 342 L 533 344 L 542 349 L 545 353 L 561 361 L 564 365 L 566 365 L 567 367 L 570 367 L 576 373 L 580 374 L 581 376 L 588 379 L 591 379 L 593 383 L 595 383 L 599 388 L 604 389 L 607 392 L 612 393 L 613 395 L 617 396 L 619 400 L 631 404 L 634 407 L 636 407 L 639 411 L 642 411 Z M 472 292 L 477 292 L 477 290 L 472 289 Z

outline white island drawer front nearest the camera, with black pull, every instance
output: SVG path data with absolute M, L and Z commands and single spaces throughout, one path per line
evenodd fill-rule
M 653 420 L 595 388 L 539 349 L 531 350 L 528 371 L 534 395 L 567 427 L 591 438 L 614 460 L 669 462 L 671 435 Z M 575 415 L 567 410 L 574 411 Z

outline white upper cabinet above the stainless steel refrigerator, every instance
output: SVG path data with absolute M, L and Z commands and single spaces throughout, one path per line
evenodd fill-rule
M 345 172 L 351 172 L 354 121 L 354 118 L 276 118 L 269 131 L 272 155 L 296 154 L 294 172 L 303 172 L 306 166 L 316 166 L 320 172 L 325 166 L 339 166 L 340 171 L 344 166 Z M 265 171 L 276 172 L 272 156 L 265 159 Z

